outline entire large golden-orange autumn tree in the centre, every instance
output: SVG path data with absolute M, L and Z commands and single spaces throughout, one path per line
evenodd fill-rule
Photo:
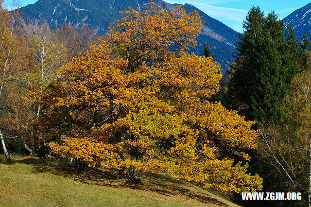
M 101 164 L 133 181 L 138 171 L 168 172 L 204 188 L 260 190 L 244 152 L 259 131 L 207 101 L 220 66 L 188 53 L 202 26 L 179 6 L 124 10 L 99 44 L 62 67 L 61 81 L 32 96 L 45 106 L 34 120 L 40 139 L 81 168 Z

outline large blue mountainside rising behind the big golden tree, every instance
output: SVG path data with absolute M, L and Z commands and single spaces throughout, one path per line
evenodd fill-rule
M 107 31 L 110 22 L 120 18 L 120 10 L 123 8 L 137 8 L 149 0 L 38 0 L 34 4 L 21 8 L 22 17 L 28 24 L 37 24 L 39 21 L 48 22 L 52 29 L 63 22 L 80 24 L 82 22 L 99 30 L 100 34 Z M 163 0 L 155 0 L 156 4 L 173 10 L 177 4 L 170 4 Z M 215 52 L 215 60 L 226 69 L 233 62 L 232 52 L 234 43 L 238 39 L 238 33 L 227 27 L 222 22 L 209 17 L 198 8 L 185 4 L 188 13 L 198 10 L 205 20 L 205 27 L 197 38 L 198 47 L 191 52 L 202 55 L 204 41 L 207 40 L 211 52 Z M 39 21 L 38 21 L 39 20 Z

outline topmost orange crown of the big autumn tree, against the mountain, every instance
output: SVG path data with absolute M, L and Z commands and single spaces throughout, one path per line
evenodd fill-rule
M 149 61 L 163 61 L 186 47 L 196 45 L 194 38 L 200 34 L 203 22 L 197 12 L 187 15 L 182 7 L 168 12 L 159 5 L 148 3 L 143 9 L 124 10 L 123 18 L 111 26 L 111 32 L 102 38 L 124 59 L 129 69 Z

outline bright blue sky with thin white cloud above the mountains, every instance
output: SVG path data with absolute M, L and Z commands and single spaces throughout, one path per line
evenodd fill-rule
M 22 0 L 25 6 L 36 0 Z M 310 3 L 311 0 L 165 0 L 169 3 L 189 3 L 204 11 L 210 17 L 216 18 L 232 29 L 242 32 L 242 21 L 252 5 L 260 6 L 265 13 L 275 10 L 280 18 L 284 18 L 296 9 Z M 8 6 L 12 0 L 4 0 Z

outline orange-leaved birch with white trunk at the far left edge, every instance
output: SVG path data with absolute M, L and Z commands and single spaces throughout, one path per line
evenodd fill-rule
M 6 123 L 13 120 L 8 120 L 5 115 L 11 110 L 11 100 L 8 98 L 12 89 L 10 83 L 21 73 L 26 44 L 20 27 L 21 17 L 18 6 L 14 5 L 16 10 L 9 12 L 2 7 L 2 3 L 3 0 L 0 0 L 0 142 L 6 159 L 10 161 L 5 139 L 11 138 L 9 135 L 11 131 L 6 127 Z

